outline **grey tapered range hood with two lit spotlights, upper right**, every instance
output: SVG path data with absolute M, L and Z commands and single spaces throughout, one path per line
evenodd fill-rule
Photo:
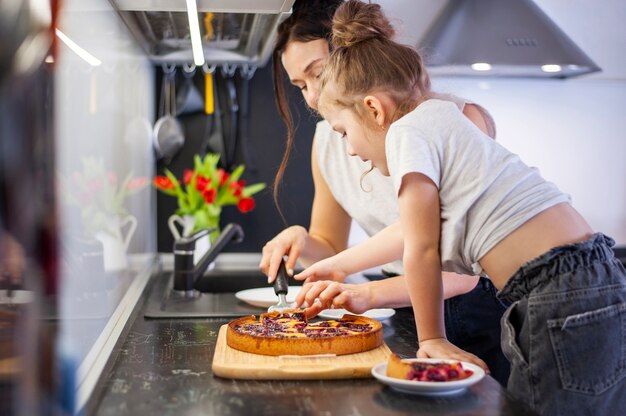
M 432 75 L 567 78 L 600 71 L 532 0 L 450 0 L 418 48 Z

